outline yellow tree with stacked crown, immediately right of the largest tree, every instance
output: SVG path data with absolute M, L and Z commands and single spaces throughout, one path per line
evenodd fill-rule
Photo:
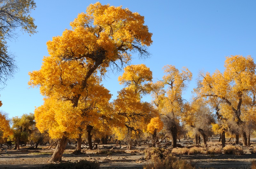
M 150 92 L 152 72 L 144 64 L 131 65 L 124 68 L 124 74 L 118 80 L 126 88 L 119 91 L 113 101 L 118 122 L 116 127 L 119 129 L 115 131 L 121 133 L 116 133 L 121 136 L 117 139 L 125 139 L 127 150 L 131 150 L 132 139 L 142 136 L 143 130 L 146 131 L 145 124 L 157 113 L 150 103 L 141 101 L 142 95 Z

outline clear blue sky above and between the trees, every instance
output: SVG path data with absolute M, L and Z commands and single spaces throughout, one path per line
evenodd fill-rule
M 37 8 L 31 13 L 35 18 L 37 31 L 31 37 L 22 34 L 8 42 L 10 52 L 16 55 L 19 72 L 0 91 L 2 112 L 9 117 L 34 112 L 35 106 L 43 104 L 43 96 L 38 88 L 29 88 L 28 72 L 39 70 L 43 56 L 48 56 L 46 42 L 53 36 L 70 29 L 69 23 L 78 13 L 85 12 L 90 0 L 35 0 Z M 193 80 L 184 93 L 189 100 L 196 87 L 199 71 L 213 73 L 223 71 L 226 56 L 251 55 L 256 57 L 256 1 L 236 0 L 102 0 L 101 4 L 122 5 L 145 17 L 145 24 L 153 33 L 153 44 L 149 47 L 151 58 L 135 59 L 132 64 L 144 63 L 150 67 L 154 79 L 161 79 L 164 65 L 174 65 L 178 69 L 188 67 Z M 136 57 L 136 55 L 134 55 Z M 117 77 L 108 74 L 104 86 L 116 97 L 123 88 Z M 146 99 L 150 99 L 147 97 Z

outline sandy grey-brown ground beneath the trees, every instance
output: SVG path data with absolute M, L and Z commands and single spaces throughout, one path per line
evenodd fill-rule
M 183 141 L 181 144 L 186 144 Z M 209 142 L 210 143 L 210 142 Z M 218 142 L 212 142 L 211 146 L 218 146 Z M 214 145 L 213 145 L 214 144 Z M 76 155 L 73 154 L 74 149 L 68 149 L 62 156 L 63 161 L 79 161 L 89 160 L 100 163 L 102 169 L 117 169 L 117 168 L 143 168 L 143 165 L 148 161 L 144 159 L 144 149 L 147 145 L 136 147 L 132 151 L 125 151 L 126 149 L 112 150 L 111 153 L 100 153 L 99 150 L 85 150 L 84 153 Z M 251 162 L 256 160 L 256 154 L 251 154 L 249 148 L 244 147 L 244 155 L 178 155 L 180 159 L 190 160 L 195 164 L 196 168 L 250 168 Z M 36 168 L 39 169 L 47 162 L 53 150 L 7 150 L 0 151 L 0 168 Z

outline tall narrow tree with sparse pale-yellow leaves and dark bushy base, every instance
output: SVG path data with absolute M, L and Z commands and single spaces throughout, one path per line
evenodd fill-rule
M 163 80 L 153 85 L 153 102 L 162 114 L 164 128 L 171 133 L 172 147 L 175 148 L 184 106 L 182 91 L 186 87 L 186 82 L 192 79 L 192 73 L 186 67 L 179 71 L 172 65 L 166 65 L 164 72 Z

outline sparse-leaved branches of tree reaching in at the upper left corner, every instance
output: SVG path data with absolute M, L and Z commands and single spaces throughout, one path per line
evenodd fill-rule
M 30 35 L 36 33 L 34 19 L 29 15 L 36 8 L 34 0 L 2 0 L 0 2 L 0 84 L 16 72 L 14 56 L 8 52 L 6 39 L 17 37 L 17 28 Z

